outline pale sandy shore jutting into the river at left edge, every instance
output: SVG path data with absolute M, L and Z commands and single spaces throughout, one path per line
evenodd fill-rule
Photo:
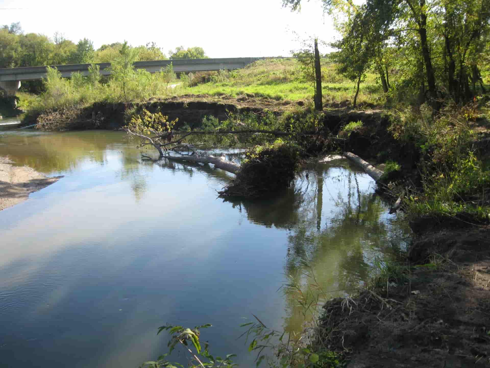
M 53 184 L 60 178 L 62 176 L 48 178 L 27 166 L 13 166 L 8 158 L 0 157 L 0 210 L 25 201 L 29 193 Z

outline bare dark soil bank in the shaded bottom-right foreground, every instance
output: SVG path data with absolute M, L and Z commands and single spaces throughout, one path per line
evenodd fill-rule
M 490 367 L 490 227 L 417 237 L 403 271 L 324 306 L 347 367 Z

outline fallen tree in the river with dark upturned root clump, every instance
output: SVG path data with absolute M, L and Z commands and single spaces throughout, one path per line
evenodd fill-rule
M 226 185 L 220 193 L 222 196 L 260 197 L 287 187 L 299 167 L 301 148 L 291 142 L 277 138 L 273 143 L 256 145 L 245 154 L 242 165 L 229 161 L 226 157 L 206 155 L 198 151 L 196 146 L 183 143 L 191 134 L 250 134 L 268 133 L 274 136 L 292 135 L 290 132 L 269 131 L 264 129 L 214 130 L 214 131 L 172 131 L 175 121 L 168 122 L 161 113 L 151 114 L 144 111 L 137 115 L 123 128 L 129 138 L 140 139 L 137 147 L 153 146 L 159 158 L 179 162 L 212 163 L 217 168 L 236 175 L 236 179 Z M 320 134 L 300 133 L 300 135 Z M 142 158 L 153 159 L 142 154 Z

